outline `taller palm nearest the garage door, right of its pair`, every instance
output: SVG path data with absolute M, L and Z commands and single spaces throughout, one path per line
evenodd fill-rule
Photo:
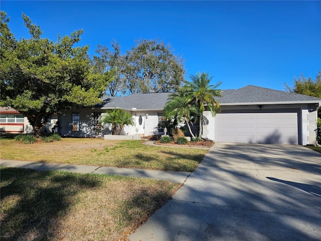
M 204 116 L 203 111 L 205 105 L 209 107 L 212 116 L 216 114 L 216 110 L 221 111 L 219 102 L 215 99 L 217 96 L 221 96 L 221 90 L 216 89 L 222 82 L 218 82 L 215 85 L 211 85 L 210 82 L 213 78 L 209 78 L 208 73 L 197 73 L 190 76 L 192 82 L 188 82 L 186 88 L 189 91 L 189 95 L 193 96 L 195 103 L 199 108 L 200 114 L 200 133 L 201 137 L 203 132 Z

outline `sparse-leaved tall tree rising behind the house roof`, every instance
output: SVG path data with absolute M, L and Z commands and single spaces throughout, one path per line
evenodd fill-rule
M 116 78 L 107 89 L 111 96 L 175 91 L 184 81 L 183 60 L 164 42 L 139 40 L 125 54 L 121 54 L 117 42 L 112 43 L 112 48 L 110 51 L 98 45 L 98 56 L 93 57 L 98 72 L 106 69 L 116 72 Z

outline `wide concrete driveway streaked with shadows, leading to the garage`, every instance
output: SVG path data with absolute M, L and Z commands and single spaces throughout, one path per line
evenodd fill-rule
M 321 154 L 216 143 L 133 240 L 321 240 Z

